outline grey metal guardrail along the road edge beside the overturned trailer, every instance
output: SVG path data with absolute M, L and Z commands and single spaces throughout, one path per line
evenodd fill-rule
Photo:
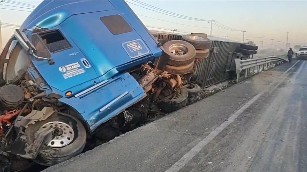
M 239 82 L 240 74 L 242 71 L 245 70 L 245 77 L 247 77 L 248 73 L 259 73 L 260 69 L 265 70 L 269 69 L 271 67 L 274 67 L 275 64 L 280 64 L 283 62 L 288 62 L 284 58 L 276 57 L 276 56 L 269 56 L 269 57 L 263 57 L 263 58 L 253 58 L 253 59 L 247 59 L 247 60 L 241 60 L 239 58 L 235 58 L 233 61 L 233 68 L 232 70 L 235 71 L 237 74 L 237 82 Z M 274 64 L 275 63 L 275 64 Z M 255 67 L 258 67 L 255 72 Z M 251 68 L 252 71 L 251 71 Z

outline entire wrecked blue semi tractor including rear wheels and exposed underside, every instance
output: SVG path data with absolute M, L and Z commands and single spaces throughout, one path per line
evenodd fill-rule
M 124 1 L 43 1 L 0 55 L 0 171 L 52 166 L 184 107 L 210 45 L 162 46 Z

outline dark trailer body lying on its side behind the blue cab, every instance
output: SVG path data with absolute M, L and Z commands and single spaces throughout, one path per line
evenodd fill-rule
M 183 34 L 155 30 L 150 30 L 150 33 L 161 44 L 170 40 L 181 40 L 182 36 L 184 36 Z M 191 33 L 191 35 L 197 36 L 198 33 Z M 233 77 L 234 73 L 231 71 L 231 64 L 235 58 L 249 59 L 253 58 L 253 55 L 257 53 L 258 47 L 255 45 L 216 36 L 207 36 L 206 34 L 201 35 L 209 38 L 212 42 L 208 49 L 208 56 L 196 63 L 197 70 L 192 77 L 192 82 L 199 84 L 202 88 Z M 196 56 L 204 53 L 206 52 L 196 50 Z

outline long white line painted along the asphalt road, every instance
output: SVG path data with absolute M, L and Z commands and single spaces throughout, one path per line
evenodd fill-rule
M 289 69 L 287 69 L 283 74 L 287 73 L 290 69 L 292 69 L 299 61 L 297 61 L 296 63 L 294 63 Z M 300 69 L 302 69 L 301 67 L 305 64 L 302 63 L 300 66 Z M 290 74 L 290 73 L 289 73 Z M 279 81 L 279 84 L 282 83 L 284 79 L 282 79 L 281 81 Z M 273 85 L 275 83 L 270 84 Z M 278 87 L 277 84 L 273 90 L 275 88 Z M 223 124 L 221 124 L 219 127 L 217 127 L 214 131 L 212 131 L 208 136 L 206 136 L 203 140 L 201 140 L 198 144 L 196 144 L 196 146 L 194 146 L 190 151 L 188 151 L 185 155 L 183 155 L 183 157 L 181 157 L 181 159 L 179 159 L 176 163 L 174 163 L 168 170 L 166 170 L 165 172 L 177 172 L 179 171 L 183 166 L 185 166 L 185 164 L 187 164 L 195 155 L 197 155 L 211 140 L 213 140 L 221 131 L 223 131 L 223 129 L 225 129 L 231 122 L 233 122 L 235 120 L 235 118 L 237 118 L 244 110 L 246 110 L 249 106 L 251 106 L 252 103 L 254 103 L 263 93 L 265 93 L 270 86 L 263 90 L 262 92 L 258 93 L 255 97 L 253 97 L 250 101 L 248 101 L 245 105 L 243 105 L 243 107 L 241 107 L 238 111 L 236 111 L 234 114 L 232 114 L 225 122 L 223 122 Z M 272 91 L 273 91 L 272 90 Z M 194 140 L 195 141 L 195 140 Z

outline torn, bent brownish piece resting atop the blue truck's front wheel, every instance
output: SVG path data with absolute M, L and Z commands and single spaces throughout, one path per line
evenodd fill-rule
M 18 129 L 23 126 L 28 127 L 29 124 L 34 124 L 37 121 L 43 121 L 51 116 L 54 112 L 52 107 L 44 107 L 42 110 L 32 110 L 30 114 L 25 117 L 17 116 L 15 120 L 15 127 Z

